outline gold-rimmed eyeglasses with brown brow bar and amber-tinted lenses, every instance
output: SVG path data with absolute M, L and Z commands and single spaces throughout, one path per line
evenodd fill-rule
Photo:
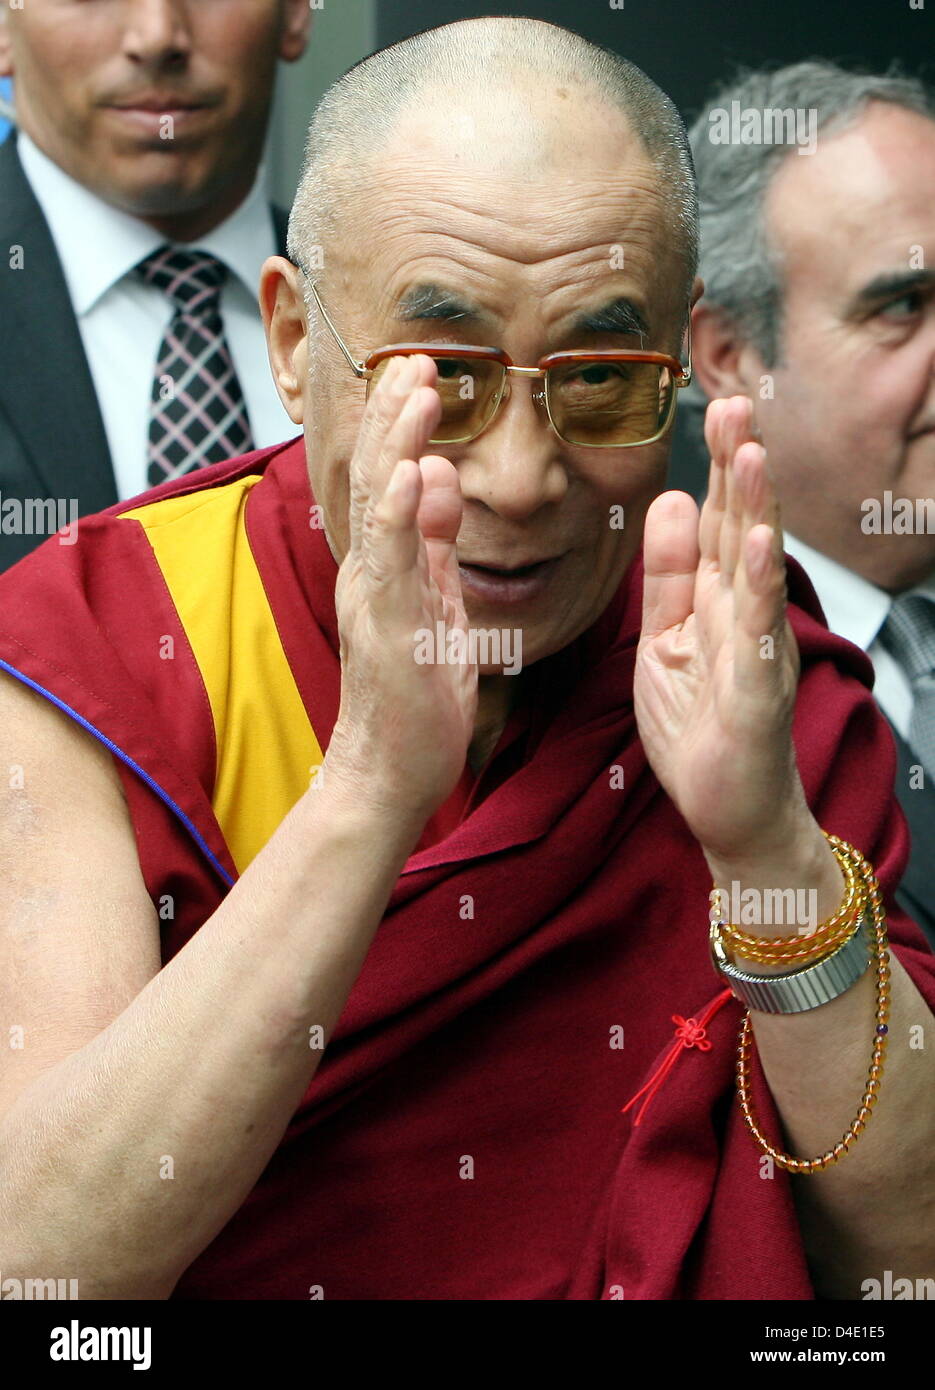
M 477 439 L 508 393 L 510 375 L 540 381 L 533 399 L 560 439 L 592 449 L 635 449 L 661 439 L 675 417 L 678 388 L 692 379 L 692 320 L 688 320 L 688 366 L 661 352 L 553 352 L 538 367 L 517 367 L 499 348 L 461 343 L 389 343 L 357 361 L 332 324 L 318 289 L 308 281 L 321 317 L 354 375 L 367 379 L 367 396 L 392 357 L 431 357 L 442 417 L 429 443 Z

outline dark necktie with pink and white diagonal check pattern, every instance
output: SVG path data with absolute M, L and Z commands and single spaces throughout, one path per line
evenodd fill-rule
M 153 488 L 253 449 L 247 407 L 221 321 L 226 265 L 207 252 L 160 246 L 136 267 L 172 302 L 150 395 Z

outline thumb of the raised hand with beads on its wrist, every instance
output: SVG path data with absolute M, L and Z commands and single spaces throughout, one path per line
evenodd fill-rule
M 646 513 L 643 639 L 677 627 L 693 612 L 697 521 L 697 506 L 688 492 L 663 492 Z

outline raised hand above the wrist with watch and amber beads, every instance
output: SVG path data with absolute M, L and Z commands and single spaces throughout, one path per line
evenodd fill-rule
M 810 820 L 795 763 L 799 652 L 782 531 L 746 398 L 714 400 L 700 517 L 664 492 L 646 517 L 635 708 L 660 783 L 710 856 L 775 859 Z

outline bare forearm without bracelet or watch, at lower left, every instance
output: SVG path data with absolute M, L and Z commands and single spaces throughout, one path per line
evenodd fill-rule
M 276 1148 L 420 830 L 365 792 L 307 792 L 110 1027 L 21 1093 L 0 1123 L 6 1273 L 168 1295 Z

